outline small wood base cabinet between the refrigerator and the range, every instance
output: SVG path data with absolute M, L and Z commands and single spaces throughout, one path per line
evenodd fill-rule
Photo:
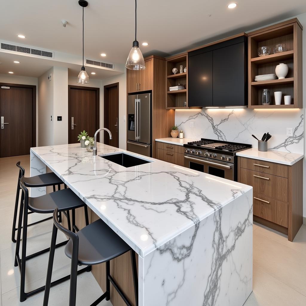
M 176 144 L 158 142 L 157 159 L 184 166 L 184 147 Z

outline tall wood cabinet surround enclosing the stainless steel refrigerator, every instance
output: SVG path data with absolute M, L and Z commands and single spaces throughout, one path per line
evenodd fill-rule
M 126 87 L 127 95 L 131 93 L 137 94 L 138 92 L 152 92 L 151 141 L 152 157 L 156 158 L 157 149 L 155 139 L 169 137 L 171 126 L 174 125 L 174 110 L 165 108 L 165 58 L 151 55 L 145 58 L 144 61 L 146 63 L 146 69 L 144 70 L 127 69 Z M 126 118 L 128 118 L 128 115 Z M 128 125 L 128 120 L 126 123 Z

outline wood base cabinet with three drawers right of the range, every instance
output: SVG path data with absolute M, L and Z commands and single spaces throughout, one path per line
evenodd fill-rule
M 303 161 L 287 166 L 238 157 L 238 181 L 253 187 L 254 221 L 293 241 L 303 224 Z

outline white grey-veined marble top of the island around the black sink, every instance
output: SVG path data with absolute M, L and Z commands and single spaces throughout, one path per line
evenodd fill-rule
M 97 147 L 98 155 L 125 151 Z M 80 144 L 64 144 L 31 148 L 31 167 L 39 158 L 142 257 L 252 189 L 139 157 L 152 162 L 125 168 Z

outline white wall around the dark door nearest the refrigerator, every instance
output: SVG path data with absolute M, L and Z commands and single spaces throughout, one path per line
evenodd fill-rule
M 126 149 L 126 121 L 123 121 L 123 116 L 126 116 L 126 73 L 119 74 L 118 76 L 113 76 L 109 79 L 102 80 L 102 87 L 104 89 L 105 85 L 114 84 L 119 82 L 119 148 Z M 100 126 L 103 127 L 104 124 L 104 92 L 101 91 L 102 106 L 100 109 L 102 113 L 100 114 Z

